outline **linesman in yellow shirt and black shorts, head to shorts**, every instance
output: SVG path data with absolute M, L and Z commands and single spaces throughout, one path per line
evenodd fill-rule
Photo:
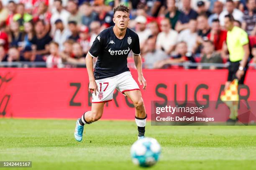
M 246 31 L 234 26 L 234 18 L 231 14 L 225 15 L 224 26 L 228 30 L 226 43 L 230 60 L 228 81 L 225 84 L 227 89 L 230 82 L 236 78 L 239 80 L 238 84 L 244 83 L 250 51 Z

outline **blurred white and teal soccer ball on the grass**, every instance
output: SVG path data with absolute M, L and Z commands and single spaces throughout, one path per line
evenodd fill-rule
M 131 157 L 135 165 L 150 167 L 155 165 L 161 153 L 161 146 L 151 137 L 137 140 L 131 147 Z

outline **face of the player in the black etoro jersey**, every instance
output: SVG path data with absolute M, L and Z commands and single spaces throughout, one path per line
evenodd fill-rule
M 115 12 L 113 22 L 118 28 L 125 29 L 128 26 L 129 20 L 129 13 L 125 13 L 123 11 Z

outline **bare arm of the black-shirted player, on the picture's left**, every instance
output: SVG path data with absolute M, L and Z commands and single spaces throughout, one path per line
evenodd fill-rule
M 92 61 L 92 56 L 90 55 L 90 53 L 87 53 L 86 58 L 85 58 L 85 63 L 86 63 L 86 68 L 87 68 L 87 72 L 88 72 L 88 76 L 89 76 L 89 92 L 92 93 L 92 91 L 94 92 L 95 96 L 96 96 L 96 90 L 98 90 L 98 86 L 97 83 L 94 79 L 94 75 L 93 75 L 93 61 Z

